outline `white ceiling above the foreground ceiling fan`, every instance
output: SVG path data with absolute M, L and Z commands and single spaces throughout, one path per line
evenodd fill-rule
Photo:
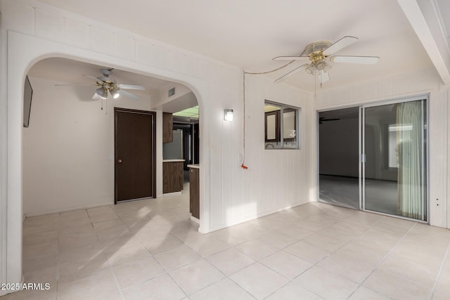
M 334 63 L 323 89 L 432 66 L 394 0 L 40 1 L 248 72 L 276 69 L 284 64 L 271 60 L 276 56 L 298 56 L 312 41 L 346 35 L 359 41 L 336 54 L 380 57 L 377 65 Z M 285 83 L 314 91 L 314 77 L 303 71 Z

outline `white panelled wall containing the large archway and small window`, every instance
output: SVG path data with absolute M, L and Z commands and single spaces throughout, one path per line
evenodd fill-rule
M 43 58 L 60 56 L 110 65 L 184 84 L 193 91 L 201 115 L 201 232 L 310 200 L 311 132 L 307 128 L 311 114 L 307 93 L 274 86 L 264 77 L 249 79 L 245 114 L 245 163 L 249 169 L 243 170 L 238 159 L 244 154 L 242 70 L 34 1 L 23 4 L 1 0 L 0 11 L 1 45 L 8 47 L 7 52 L 1 52 L 2 62 L 7 63 L 2 67 L 1 84 L 8 87 L 7 94 L 2 91 L 0 100 L 1 111 L 8 112 L 8 119 L 0 120 L 4 157 L 1 190 L 7 191 L 6 195 L 1 194 L 0 206 L 8 207 L 6 214 L 2 211 L 0 215 L 1 222 L 7 225 L 7 237 L 3 236 L 0 246 L 1 282 L 21 280 L 24 192 L 21 99 L 25 74 Z M 302 107 L 302 150 L 264 151 L 264 99 Z M 225 108 L 233 108 L 235 121 L 224 122 Z M 157 143 L 161 143 L 160 138 Z M 89 197 L 103 195 L 92 193 Z

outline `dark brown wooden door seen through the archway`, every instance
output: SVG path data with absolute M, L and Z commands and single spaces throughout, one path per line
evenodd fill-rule
M 155 112 L 115 108 L 115 203 L 156 197 Z

